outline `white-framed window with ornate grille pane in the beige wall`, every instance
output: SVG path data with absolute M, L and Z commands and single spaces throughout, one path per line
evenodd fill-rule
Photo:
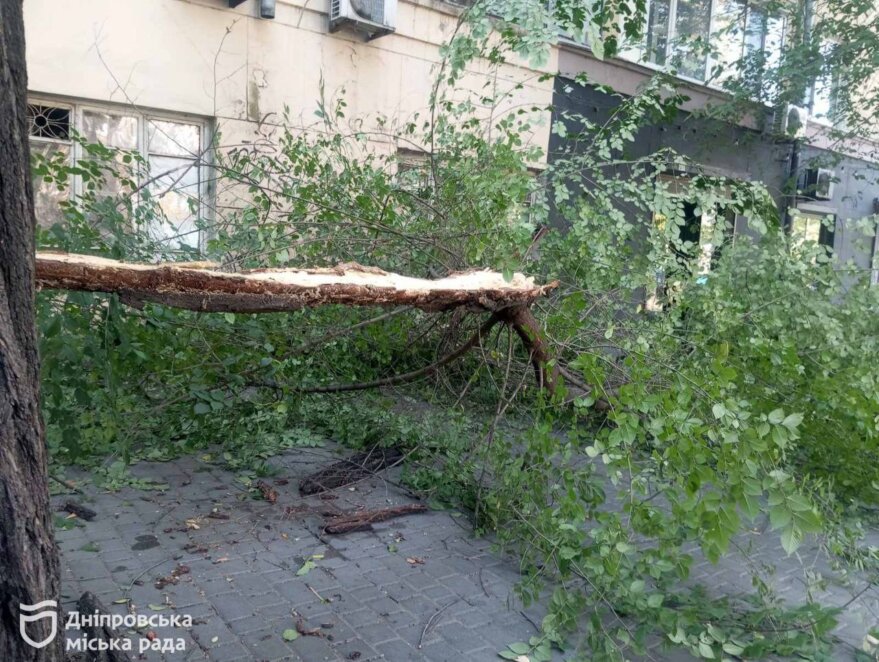
M 146 189 L 156 197 L 165 221 L 149 228 L 153 239 L 170 247 L 198 247 L 196 219 L 203 212 L 205 123 L 200 120 L 143 113 L 128 107 L 86 103 L 28 104 L 31 151 L 47 158 L 75 163 L 82 148 L 72 140 L 78 132 L 86 142 L 140 152 L 148 171 Z M 78 179 L 78 178 L 77 178 Z M 42 180 L 34 182 L 37 220 L 50 227 L 62 218 L 60 203 L 82 192 L 82 182 L 67 189 Z M 117 182 L 107 182 L 99 194 L 119 193 Z

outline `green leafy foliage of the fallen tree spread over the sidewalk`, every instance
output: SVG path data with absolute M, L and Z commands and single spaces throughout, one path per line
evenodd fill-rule
M 499 330 L 411 387 L 438 412 L 401 408 L 399 394 L 308 394 L 429 363 L 467 335 L 455 314 L 199 315 L 44 292 L 53 461 L 97 465 L 113 487 L 138 459 L 211 448 L 249 484 L 271 473 L 273 453 L 325 437 L 396 446 L 410 486 L 467 508 L 518 553 L 526 601 L 552 586 L 541 635 L 502 657 L 547 659 L 558 647 L 618 660 L 659 636 L 706 659 L 829 659 L 833 610 L 784 604 L 759 573 L 749 596 L 712 595 L 689 573 L 764 519 L 788 553 L 815 536 L 839 563 L 875 572 L 876 550 L 860 546 L 849 519 L 879 497 L 879 301 L 868 274 L 789 237 L 760 184 L 708 175 L 670 151 L 627 156 L 640 127 L 682 102 L 664 76 L 604 123 L 566 115 L 553 131 L 576 149 L 535 177 L 539 154 L 524 136 L 546 109 L 486 116 L 505 93 L 448 94 L 477 55 L 537 57 L 554 38 L 558 24 L 547 28 L 534 3 L 492 7 L 468 12 L 448 45 L 431 117 L 373 120 L 385 138 L 429 148 L 414 165 L 372 149 L 341 98 L 324 100 L 315 126 L 288 119 L 229 149 L 218 136 L 223 204 L 198 220 L 199 251 L 151 231 L 167 219 L 138 157 L 83 146 L 75 166 L 37 159 L 39 176 L 79 177 L 84 191 L 39 240 L 228 269 L 353 260 L 414 275 L 488 266 L 559 279 L 537 312 L 567 391 L 530 387 L 528 357 Z M 563 19 L 582 25 L 585 9 L 572 7 Z M 590 29 L 620 7 L 590 14 Z M 667 176 L 680 172 L 685 184 Z M 105 194 L 109 181 L 121 194 Z M 704 237 L 693 236 L 694 215 L 713 219 Z M 733 232 L 736 216 L 748 232 Z M 535 232 L 550 220 L 564 231 Z

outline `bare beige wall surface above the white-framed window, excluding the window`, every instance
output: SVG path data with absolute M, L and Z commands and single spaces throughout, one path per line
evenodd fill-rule
M 230 138 L 267 115 L 274 121 L 285 105 L 303 123 L 315 121 L 322 78 L 328 94 L 345 89 L 350 117 L 423 113 L 455 9 L 400 0 L 396 33 L 367 42 L 328 33 L 327 6 L 279 0 L 276 18 L 264 20 L 256 0 L 234 10 L 226 0 L 27 0 L 29 89 L 216 118 Z M 540 71 L 476 62 L 464 84 L 522 84 L 507 107 L 545 106 L 552 80 L 537 79 L 556 69 L 555 53 Z M 532 143 L 545 147 L 548 131 L 544 118 Z

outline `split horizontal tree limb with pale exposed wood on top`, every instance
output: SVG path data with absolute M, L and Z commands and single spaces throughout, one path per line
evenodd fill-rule
M 469 271 L 437 280 L 358 264 L 226 273 L 200 265 L 132 264 L 52 252 L 37 253 L 36 281 L 44 289 L 115 293 L 130 302 L 233 313 L 283 312 L 325 304 L 497 311 L 527 306 L 557 285 L 537 285 L 518 273 L 507 282 L 494 271 Z

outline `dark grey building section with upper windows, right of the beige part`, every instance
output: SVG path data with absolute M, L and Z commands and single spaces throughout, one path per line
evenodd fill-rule
M 812 82 L 802 109 L 808 118 L 806 127 L 796 138 L 778 131 L 768 108 L 766 117 L 744 116 L 735 125 L 698 112 L 728 100 L 721 85 L 743 56 L 760 53 L 769 66 L 778 62 L 788 32 L 785 18 L 768 13 L 764 3 L 650 0 L 641 43 L 621 49 L 617 58 L 599 60 L 584 43 L 561 40 L 554 121 L 565 122 L 571 113 L 606 120 L 620 102 L 602 86 L 635 95 L 674 59 L 689 100 L 673 120 L 642 129 L 630 148 L 631 156 L 671 148 L 709 174 L 762 182 L 785 217 L 788 231 L 830 247 L 840 264 L 849 264 L 847 269 L 872 272 L 875 283 L 879 237 L 864 235 L 856 221 L 879 213 L 879 144 L 832 141 L 833 81 Z M 682 36 L 710 42 L 718 55 L 688 51 L 686 43 L 676 42 Z M 584 74 L 593 84 L 574 84 Z M 570 147 L 564 138 L 551 135 L 550 161 L 566 149 Z M 700 219 L 692 221 L 698 234 Z M 747 231 L 743 218 L 736 219 L 735 231 Z

